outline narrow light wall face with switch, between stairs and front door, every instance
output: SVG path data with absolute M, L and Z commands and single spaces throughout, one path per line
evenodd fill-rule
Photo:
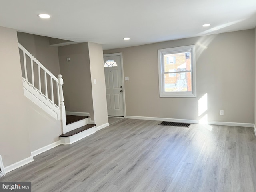
M 88 42 L 92 82 L 93 110 L 96 126 L 108 123 L 106 84 L 102 45 Z M 96 84 L 94 84 L 96 79 Z

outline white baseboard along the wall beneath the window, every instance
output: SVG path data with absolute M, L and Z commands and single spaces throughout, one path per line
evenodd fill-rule
M 173 118 L 159 118 L 159 117 L 143 117 L 143 116 L 126 116 L 128 119 L 141 119 L 141 120 L 153 120 L 153 121 L 171 121 L 178 123 L 195 123 L 198 124 L 198 120 L 191 119 L 173 119 Z M 237 122 L 218 122 L 208 121 L 210 125 L 224 125 L 224 126 L 238 126 L 238 127 L 255 127 L 252 123 L 237 123 Z M 255 129 L 256 130 L 256 129 Z

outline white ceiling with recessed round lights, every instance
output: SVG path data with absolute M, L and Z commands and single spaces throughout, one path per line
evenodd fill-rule
M 42 20 L 41 13 L 52 17 Z M 256 0 L 0 0 L 0 26 L 104 50 L 255 25 Z

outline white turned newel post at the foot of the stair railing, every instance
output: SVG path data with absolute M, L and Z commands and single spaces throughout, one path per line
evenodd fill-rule
M 59 91 L 60 91 L 60 113 L 61 113 L 61 124 L 62 124 L 62 133 L 66 133 L 66 108 L 64 105 L 64 96 L 63 96 L 63 79 L 62 75 L 58 75 Z

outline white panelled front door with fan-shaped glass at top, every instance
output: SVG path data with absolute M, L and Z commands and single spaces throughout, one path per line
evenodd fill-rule
M 104 70 L 109 116 L 124 116 L 122 54 L 105 54 Z

